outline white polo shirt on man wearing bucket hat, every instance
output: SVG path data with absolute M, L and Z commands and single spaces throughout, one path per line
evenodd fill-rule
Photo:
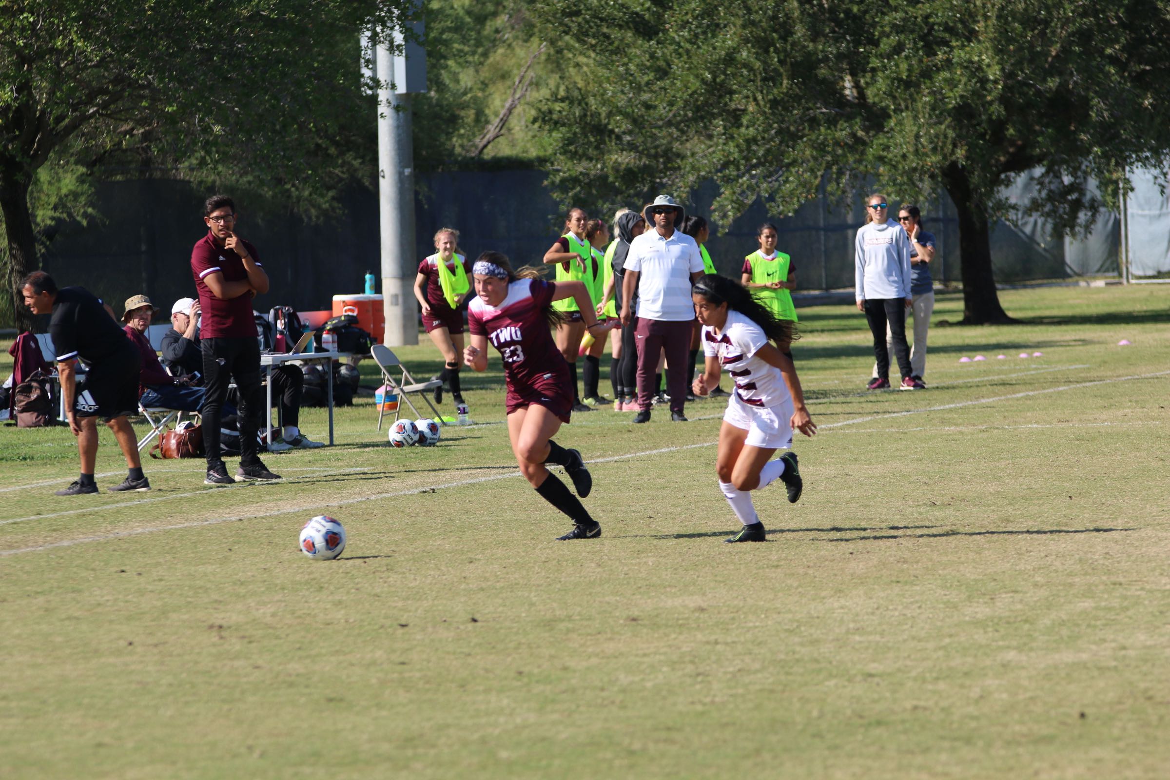
M 663 239 L 654 228 L 629 242 L 626 270 L 638 271 L 638 316 L 686 322 L 695 318 L 690 275 L 703 270 L 698 244 L 675 230 Z

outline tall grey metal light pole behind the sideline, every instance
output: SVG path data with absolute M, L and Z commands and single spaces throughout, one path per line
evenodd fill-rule
M 421 37 L 422 22 L 415 33 Z M 400 44 L 402 35 L 394 33 Z M 397 48 L 397 47 L 395 47 Z M 379 46 L 374 55 L 378 89 L 378 212 L 381 228 L 381 296 L 388 346 L 419 343 L 414 284 L 414 146 L 411 92 L 426 91 L 426 53 L 413 41 L 402 54 Z

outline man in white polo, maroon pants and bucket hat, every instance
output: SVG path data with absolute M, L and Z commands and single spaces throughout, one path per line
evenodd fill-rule
M 638 291 L 634 341 L 638 345 L 638 406 L 634 422 L 649 422 L 651 387 L 658 367 L 659 351 L 665 350 L 667 393 L 670 395 L 670 420 L 686 422 L 682 414 L 687 400 L 687 351 L 690 348 L 695 304 L 690 287 L 703 276 L 703 257 L 698 244 L 677 230 L 684 216 L 682 206 L 669 195 L 659 195 L 642 210 L 647 230 L 629 243 L 626 274 L 621 285 L 621 324 L 634 320 L 629 301 Z

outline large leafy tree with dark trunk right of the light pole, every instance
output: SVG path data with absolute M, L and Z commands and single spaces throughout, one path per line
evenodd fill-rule
M 544 37 L 579 4 L 543 0 Z M 989 230 L 1023 210 L 1087 228 L 1123 171 L 1170 151 L 1170 13 L 1155 0 L 676 0 L 596 2 L 557 40 L 562 90 L 539 122 L 566 199 L 686 191 L 714 178 L 716 216 L 756 198 L 793 212 L 821 181 L 903 199 L 942 185 L 959 215 L 964 322 L 1009 319 Z M 587 106 L 587 108 L 583 108 Z M 1087 185 L 1100 182 L 1103 199 Z

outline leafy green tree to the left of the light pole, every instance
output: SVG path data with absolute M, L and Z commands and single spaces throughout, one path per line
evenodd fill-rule
M 54 160 L 170 166 L 307 213 L 363 172 L 374 132 L 358 35 L 411 0 L 7 0 L 0 5 L 6 287 L 37 267 L 29 191 Z M 27 311 L 16 302 L 19 322 Z

